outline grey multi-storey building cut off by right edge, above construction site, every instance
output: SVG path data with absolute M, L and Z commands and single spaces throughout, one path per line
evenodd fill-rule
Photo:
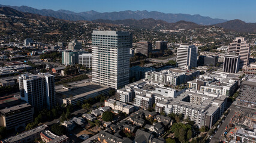
M 242 82 L 237 104 L 256 108 L 256 76 L 249 76 Z

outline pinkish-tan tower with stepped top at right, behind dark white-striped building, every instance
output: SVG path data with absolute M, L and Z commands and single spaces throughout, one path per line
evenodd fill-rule
M 236 38 L 228 46 L 228 52 L 236 52 L 240 55 L 239 69 L 242 69 L 243 66 L 248 66 L 249 64 L 249 48 L 248 41 L 245 38 Z

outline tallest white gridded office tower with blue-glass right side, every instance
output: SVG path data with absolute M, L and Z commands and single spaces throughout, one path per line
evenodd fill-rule
M 118 89 L 129 83 L 129 48 L 132 34 L 92 32 L 92 82 Z

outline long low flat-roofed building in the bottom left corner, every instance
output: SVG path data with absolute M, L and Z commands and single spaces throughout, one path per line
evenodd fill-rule
M 10 142 L 34 142 L 35 139 L 40 138 L 40 133 L 48 128 L 47 125 L 41 125 L 37 128 L 28 130 L 19 135 L 11 136 L 10 138 L 3 139 L 1 142 L 10 143 Z

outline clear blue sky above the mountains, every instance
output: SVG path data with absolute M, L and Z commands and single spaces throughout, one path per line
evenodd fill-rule
M 256 23 L 255 0 L 0 0 L 0 4 L 74 12 L 147 10 L 162 13 L 200 14 L 212 18 L 240 19 Z

